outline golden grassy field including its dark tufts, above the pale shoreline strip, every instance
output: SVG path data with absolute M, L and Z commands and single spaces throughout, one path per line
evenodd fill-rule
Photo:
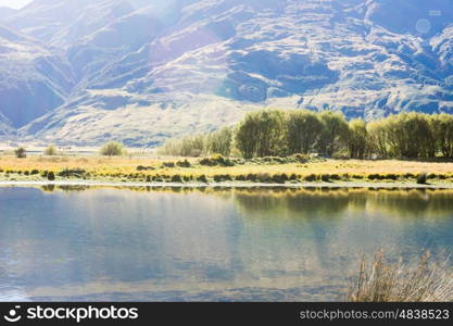
M 134 183 L 412 183 L 452 184 L 453 163 L 312 159 L 306 163 L 232 160 L 234 166 L 206 166 L 200 159 L 159 156 L 0 155 L 0 180 L 87 179 Z

